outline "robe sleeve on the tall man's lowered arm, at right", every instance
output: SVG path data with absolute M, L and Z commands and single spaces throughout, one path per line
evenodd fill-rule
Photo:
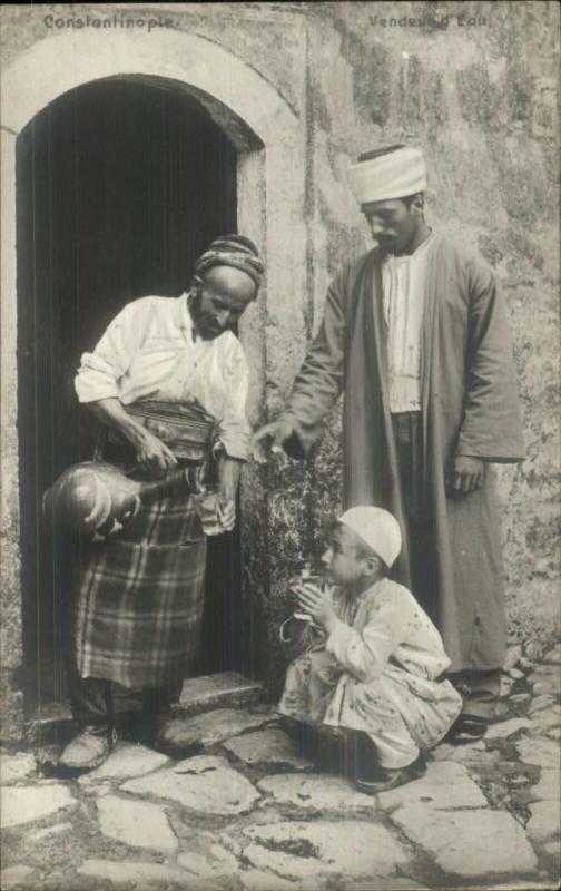
M 524 460 L 516 375 L 506 310 L 495 274 L 480 258 L 469 267 L 465 402 L 455 453 L 484 461 Z

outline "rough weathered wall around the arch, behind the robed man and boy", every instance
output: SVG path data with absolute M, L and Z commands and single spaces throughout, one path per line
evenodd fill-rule
M 307 238 L 306 287 L 267 304 L 258 329 L 266 354 L 253 341 L 255 325 L 243 327 L 265 376 L 252 396 L 254 422 L 274 417 L 283 404 L 306 337 L 319 324 L 329 278 L 368 244 L 346 167 L 378 139 L 413 137 L 424 147 L 431 223 L 479 248 L 506 294 L 528 448 L 524 464 L 501 469 L 510 626 L 514 637 L 550 634 L 553 617 L 559 619 L 558 4 L 158 3 L 73 10 L 6 7 L 4 66 L 63 30 L 47 27 L 49 14 L 51 26 L 72 14 L 138 16 L 145 33 L 154 14 L 169 18 L 176 33 L 227 49 L 299 121 L 305 190 L 297 237 Z M 156 53 L 158 29 L 150 32 Z M 90 30 L 99 41 L 115 32 Z M 165 75 L 165 58 L 161 65 Z M 269 245 L 296 237 L 277 229 L 274 213 L 265 226 Z M 295 307 L 306 329 L 298 333 Z M 289 339 L 282 336 L 286 330 Z M 280 459 L 246 474 L 248 609 L 272 688 L 282 675 L 276 624 L 286 611 L 284 580 L 302 548 L 319 549 L 339 508 L 338 440 L 336 410 L 307 467 Z M 3 656 L 9 667 L 19 658 L 13 647 L 8 644 Z

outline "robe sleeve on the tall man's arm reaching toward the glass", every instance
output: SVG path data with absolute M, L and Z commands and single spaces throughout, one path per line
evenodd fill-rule
M 293 458 L 309 451 L 321 433 L 321 424 L 344 388 L 345 359 L 345 280 L 343 271 L 327 291 L 324 317 L 308 349 L 293 385 L 288 403 L 279 420 L 289 420 L 297 441 L 285 449 Z

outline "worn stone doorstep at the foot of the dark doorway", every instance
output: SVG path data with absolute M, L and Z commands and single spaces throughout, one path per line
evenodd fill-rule
M 256 705 L 263 685 L 238 672 L 219 672 L 184 682 L 174 717 L 189 717 L 213 708 L 242 708 Z M 131 713 L 124 713 L 125 716 Z M 26 741 L 33 746 L 65 743 L 73 732 L 68 702 L 43 697 L 33 704 L 26 722 Z

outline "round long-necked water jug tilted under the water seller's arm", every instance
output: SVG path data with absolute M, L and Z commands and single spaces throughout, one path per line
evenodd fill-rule
M 190 464 L 154 482 L 131 480 L 114 464 L 83 461 L 67 468 L 42 499 L 46 520 L 67 535 L 92 541 L 112 538 L 142 505 L 166 495 L 200 491 L 200 466 Z

